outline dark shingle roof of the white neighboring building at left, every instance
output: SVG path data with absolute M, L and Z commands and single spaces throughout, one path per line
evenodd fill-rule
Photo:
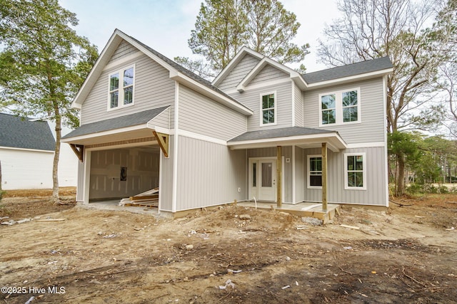
M 48 122 L 0 113 L 0 147 L 54 151 Z

